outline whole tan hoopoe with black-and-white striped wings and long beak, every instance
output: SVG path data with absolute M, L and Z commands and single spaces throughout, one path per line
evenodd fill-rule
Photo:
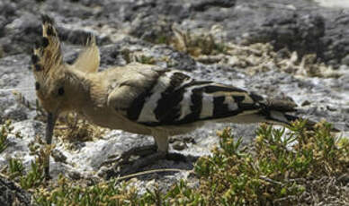
M 66 64 L 58 31 L 47 15 L 42 16 L 42 37 L 31 62 L 37 97 L 48 112 L 47 143 L 59 114 L 74 111 L 103 127 L 153 136 L 157 150 L 135 167 L 165 158 L 171 135 L 191 132 L 207 121 L 289 124 L 298 119 L 286 114 L 296 111 L 291 102 L 198 81 L 175 69 L 128 64 L 97 72 L 100 56 L 94 36 L 75 63 Z M 49 163 L 45 173 L 49 176 Z

